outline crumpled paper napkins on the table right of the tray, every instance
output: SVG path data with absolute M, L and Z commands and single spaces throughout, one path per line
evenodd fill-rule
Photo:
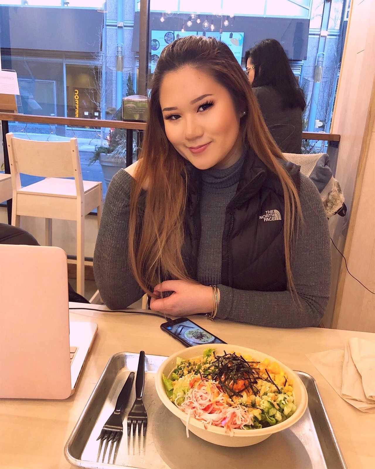
M 375 341 L 353 338 L 345 350 L 307 357 L 346 402 L 362 412 L 375 412 Z

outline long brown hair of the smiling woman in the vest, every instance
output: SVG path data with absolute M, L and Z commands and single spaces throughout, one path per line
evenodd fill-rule
M 165 47 L 155 68 L 149 117 L 130 197 L 128 255 L 135 279 L 149 295 L 161 278 L 188 280 L 181 254 L 187 196 L 186 178 L 181 174 L 185 172 L 187 177 L 186 166 L 165 135 L 159 103 L 165 74 L 184 66 L 198 68 L 212 76 L 230 93 L 236 109 L 246 111 L 240 120 L 239 138 L 255 151 L 270 171 L 278 175 L 285 200 L 286 274 L 288 287 L 294 293 L 291 244 L 296 220 L 301 218 L 297 190 L 279 162 L 284 157 L 264 123 L 246 74 L 227 45 L 203 36 L 177 39 Z M 148 190 L 143 211 L 140 198 L 143 198 L 142 187 L 146 182 Z

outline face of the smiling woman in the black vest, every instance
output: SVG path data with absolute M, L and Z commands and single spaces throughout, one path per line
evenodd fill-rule
M 211 76 L 188 66 L 167 73 L 160 107 L 168 140 L 196 168 L 226 168 L 240 158 L 240 114 Z

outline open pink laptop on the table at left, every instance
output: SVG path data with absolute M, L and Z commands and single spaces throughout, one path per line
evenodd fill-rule
M 67 255 L 0 244 L 0 398 L 66 399 L 98 325 L 70 322 Z

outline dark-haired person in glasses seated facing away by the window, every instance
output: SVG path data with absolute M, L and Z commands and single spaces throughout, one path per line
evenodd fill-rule
M 245 53 L 246 73 L 264 121 L 281 151 L 300 153 L 303 91 L 276 39 L 264 39 Z

